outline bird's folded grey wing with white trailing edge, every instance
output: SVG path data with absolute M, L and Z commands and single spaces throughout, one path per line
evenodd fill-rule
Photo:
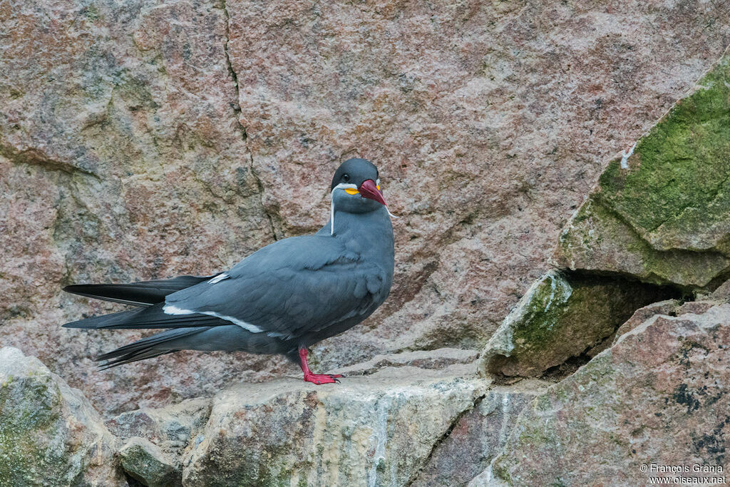
M 367 315 L 387 292 L 385 269 L 334 239 L 297 237 L 262 250 L 225 278 L 167 296 L 166 310 L 215 315 L 249 331 L 296 337 Z

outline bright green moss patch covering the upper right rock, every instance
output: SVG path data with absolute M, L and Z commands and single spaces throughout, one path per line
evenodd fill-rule
M 730 210 L 730 57 L 600 177 L 604 204 L 640 234 L 696 232 Z

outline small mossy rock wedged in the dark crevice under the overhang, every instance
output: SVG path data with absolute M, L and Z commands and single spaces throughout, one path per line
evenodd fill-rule
M 485 347 L 480 370 L 537 377 L 601 345 L 637 308 L 676 292 L 618 277 L 550 271 L 504 318 Z

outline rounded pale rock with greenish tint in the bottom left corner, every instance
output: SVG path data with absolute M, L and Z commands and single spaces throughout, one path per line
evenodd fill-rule
M 123 486 L 115 438 L 77 389 L 0 348 L 0 486 Z

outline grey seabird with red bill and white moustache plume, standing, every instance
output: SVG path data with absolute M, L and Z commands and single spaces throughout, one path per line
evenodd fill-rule
M 316 234 L 274 242 L 212 276 L 66 286 L 139 309 L 64 326 L 167 329 L 104 353 L 101 367 L 178 350 L 242 350 L 282 353 L 300 365 L 304 380 L 334 383 L 342 376 L 310 371 L 307 348 L 371 315 L 392 282 L 393 227 L 377 167 L 350 159 L 334 173 L 330 221 Z

